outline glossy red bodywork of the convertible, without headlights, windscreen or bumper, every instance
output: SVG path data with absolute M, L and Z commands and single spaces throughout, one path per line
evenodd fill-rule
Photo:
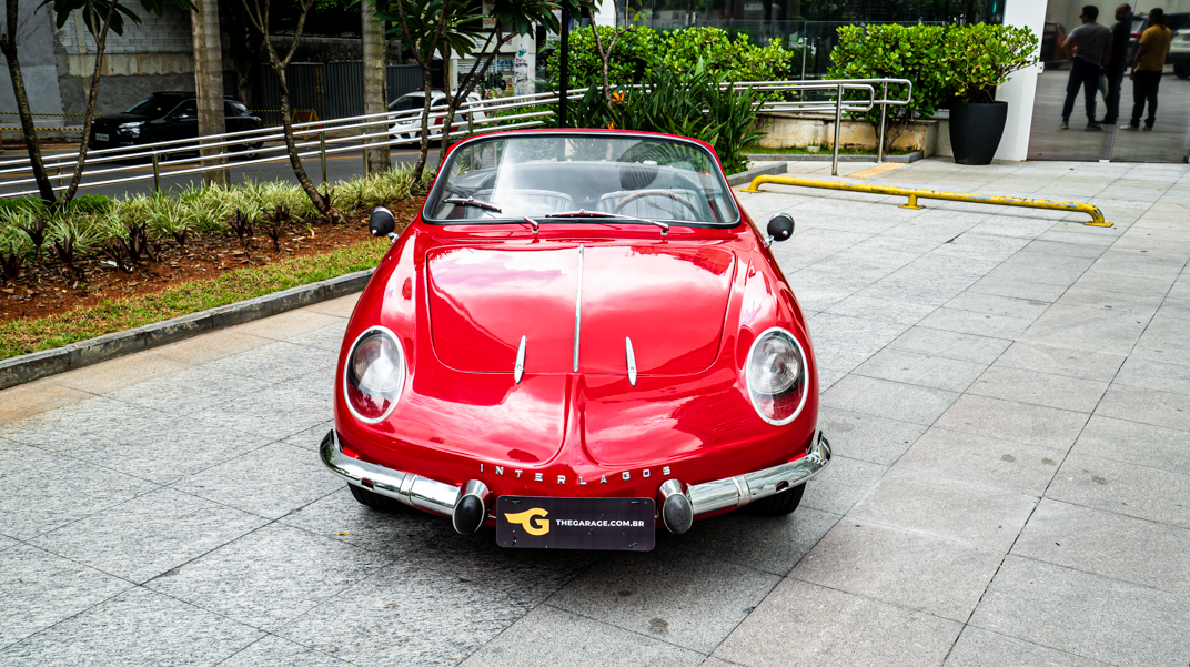
M 819 395 L 810 338 L 740 213 L 733 227 L 675 225 L 664 237 L 585 219 L 534 235 L 528 225 L 431 225 L 419 214 L 344 336 L 334 421 L 345 453 L 451 485 L 478 479 L 495 496 L 649 498 L 666 478 L 700 484 L 806 455 Z M 375 325 L 400 339 L 407 382 L 392 415 L 367 424 L 346 408 L 343 373 L 351 344 Z M 784 426 L 760 419 L 745 385 L 750 346 L 775 326 L 806 351 L 808 397 Z

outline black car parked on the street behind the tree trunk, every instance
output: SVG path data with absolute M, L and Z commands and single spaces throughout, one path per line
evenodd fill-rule
M 259 117 L 252 115 L 244 102 L 231 96 L 224 97 L 224 120 L 227 132 L 262 127 Z M 124 113 L 96 118 L 87 145 L 92 149 L 114 149 L 198 136 L 199 106 L 194 93 L 154 93 Z M 233 150 L 255 152 L 259 147 L 261 143 L 255 141 Z

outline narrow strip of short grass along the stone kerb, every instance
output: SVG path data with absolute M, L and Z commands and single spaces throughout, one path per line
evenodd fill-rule
M 237 269 L 218 278 L 173 285 L 157 294 L 109 300 L 52 317 L 13 320 L 0 325 L 0 359 L 362 271 L 376 266 L 388 248 L 388 239 L 367 239 L 325 254 Z

